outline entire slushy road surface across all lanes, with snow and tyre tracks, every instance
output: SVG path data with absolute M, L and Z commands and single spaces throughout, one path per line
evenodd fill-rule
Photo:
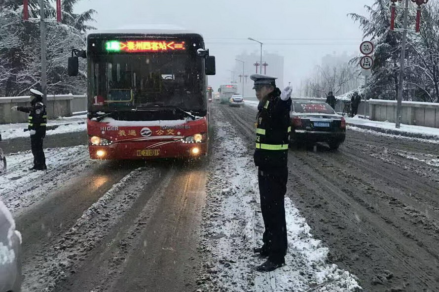
M 255 272 L 254 117 L 212 105 L 204 162 L 90 161 L 73 134 L 46 138 L 65 146 L 46 149 L 47 172 L 8 151 L 0 198 L 23 233 L 23 291 L 437 290 L 437 145 L 352 130 L 338 152 L 290 150 L 287 265 Z

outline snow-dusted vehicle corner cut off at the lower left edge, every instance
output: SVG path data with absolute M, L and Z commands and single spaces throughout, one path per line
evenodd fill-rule
M 0 292 L 21 292 L 21 234 L 0 201 Z

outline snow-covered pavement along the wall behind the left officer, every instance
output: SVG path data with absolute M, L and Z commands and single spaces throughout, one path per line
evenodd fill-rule
M 56 120 L 49 120 L 47 127 L 58 126 L 54 130 L 47 130 L 46 135 L 55 135 L 70 132 L 80 132 L 87 129 L 87 115 L 60 117 Z M 0 125 L 0 134 L 2 140 L 29 137 L 28 123 L 4 124 Z

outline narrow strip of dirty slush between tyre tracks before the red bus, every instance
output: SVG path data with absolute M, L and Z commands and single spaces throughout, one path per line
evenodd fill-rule
M 51 292 L 57 284 L 75 273 L 77 265 L 136 202 L 152 176 L 153 171 L 148 167 L 133 170 L 84 211 L 58 244 L 41 252 L 42 256 L 26 265 L 23 291 Z

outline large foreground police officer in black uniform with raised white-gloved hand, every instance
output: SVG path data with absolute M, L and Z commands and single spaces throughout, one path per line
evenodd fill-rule
M 258 166 L 260 205 L 265 232 L 263 245 L 255 253 L 268 259 L 257 267 L 272 271 L 285 264 L 287 226 L 285 201 L 288 179 L 288 143 L 290 134 L 291 92 L 276 87 L 277 77 L 255 74 L 253 89 L 259 100 L 256 117 L 255 164 Z

